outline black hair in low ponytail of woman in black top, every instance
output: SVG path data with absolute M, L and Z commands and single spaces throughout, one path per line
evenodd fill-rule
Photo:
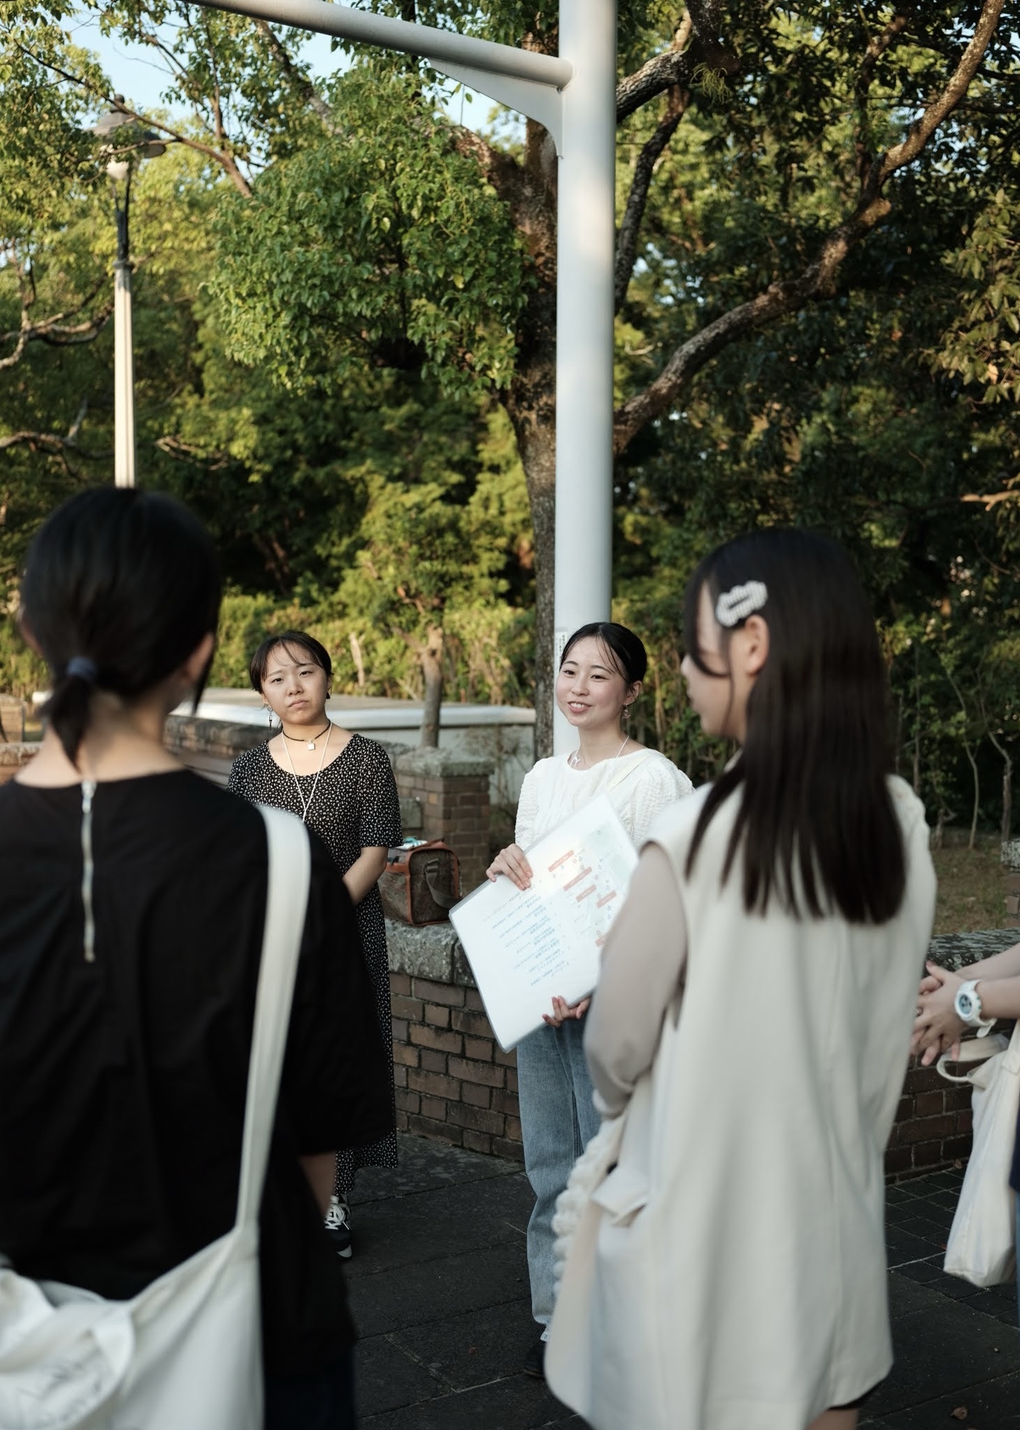
M 93 691 L 152 691 L 216 631 L 219 605 L 216 548 L 179 502 L 107 486 L 57 508 L 29 549 L 21 619 L 50 668 L 43 714 L 72 764 Z

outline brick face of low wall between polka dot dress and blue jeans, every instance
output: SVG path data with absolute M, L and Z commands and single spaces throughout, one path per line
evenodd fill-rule
M 516 1058 L 492 1037 L 476 988 L 393 972 L 396 1125 L 521 1160 Z

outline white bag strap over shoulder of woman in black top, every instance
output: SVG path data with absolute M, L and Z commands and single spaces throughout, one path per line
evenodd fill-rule
M 269 809 L 265 805 L 259 805 L 259 814 L 266 821 L 269 878 L 252 1057 L 247 1064 L 245 1140 L 237 1185 L 239 1227 L 253 1223 L 259 1216 L 312 869 L 308 831 L 300 819 L 285 809 Z

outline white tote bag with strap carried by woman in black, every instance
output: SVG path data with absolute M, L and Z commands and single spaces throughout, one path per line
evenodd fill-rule
M 310 854 L 262 809 L 269 884 L 233 1228 L 130 1301 L 0 1267 L 0 1430 L 260 1430 L 259 1203 Z

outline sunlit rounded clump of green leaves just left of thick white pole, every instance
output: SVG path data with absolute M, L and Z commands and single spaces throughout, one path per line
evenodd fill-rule
M 330 110 L 339 133 L 222 210 L 210 287 L 233 356 L 288 388 L 366 362 L 448 395 L 506 386 L 521 243 L 478 164 L 408 76 L 355 70 Z

